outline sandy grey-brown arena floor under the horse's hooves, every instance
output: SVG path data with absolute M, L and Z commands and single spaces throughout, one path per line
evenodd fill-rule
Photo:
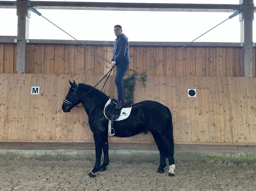
M 175 176 L 156 173 L 156 162 L 110 161 L 95 178 L 91 160 L 0 159 L 0 190 L 254 191 L 256 163 L 176 161 Z

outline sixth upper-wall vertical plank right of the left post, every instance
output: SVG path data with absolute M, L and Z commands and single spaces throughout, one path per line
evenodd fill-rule
M 84 64 L 84 46 L 74 46 L 74 74 L 84 74 L 85 64 Z

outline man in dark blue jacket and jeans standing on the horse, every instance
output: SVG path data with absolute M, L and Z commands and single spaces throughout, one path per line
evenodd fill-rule
M 113 48 L 113 58 L 111 60 L 111 66 L 116 66 L 115 84 L 118 94 L 118 104 L 115 109 L 121 108 L 125 104 L 124 100 L 124 88 L 122 80 L 130 65 L 129 56 L 129 42 L 128 38 L 123 34 L 122 27 L 120 25 L 114 26 L 114 33 L 116 35 L 116 41 Z

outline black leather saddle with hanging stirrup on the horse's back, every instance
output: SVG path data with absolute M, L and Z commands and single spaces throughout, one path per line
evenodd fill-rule
M 120 109 L 115 109 L 115 106 L 117 105 L 119 101 L 117 99 L 111 99 L 110 103 L 105 106 L 104 114 L 107 119 L 109 119 L 109 132 L 108 135 L 113 136 L 115 134 L 114 128 L 113 128 L 113 121 L 117 120 L 118 117 L 121 114 L 122 108 L 128 108 L 132 106 L 132 100 L 125 103 Z M 111 124 L 110 124 L 111 122 Z

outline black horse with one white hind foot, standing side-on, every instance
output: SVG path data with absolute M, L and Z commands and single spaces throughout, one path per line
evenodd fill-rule
M 105 171 L 109 164 L 108 155 L 108 122 L 104 115 L 104 106 L 109 97 L 90 85 L 70 82 L 71 88 L 62 104 L 63 112 L 70 110 L 82 103 L 89 117 L 89 125 L 93 132 L 95 142 L 96 161 L 93 170 L 88 174 L 95 177 L 97 171 Z M 152 133 L 160 153 L 158 173 L 164 172 L 166 158 L 169 162 L 168 175 L 174 176 L 174 143 L 171 112 L 168 107 L 156 101 L 141 101 L 132 105 L 130 116 L 125 120 L 114 121 L 115 135 L 130 137 L 141 132 Z M 101 165 L 101 154 L 104 160 Z

